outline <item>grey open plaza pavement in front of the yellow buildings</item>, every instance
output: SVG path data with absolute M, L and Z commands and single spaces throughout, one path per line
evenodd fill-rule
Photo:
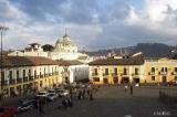
M 136 87 L 129 95 L 123 87 L 101 87 L 93 102 L 74 100 L 72 108 L 58 109 L 60 103 L 45 105 L 45 114 L 33 109 L 18 117 L 177 117 L 175 110 L 158 102 L 158 89 L 152 88 Z

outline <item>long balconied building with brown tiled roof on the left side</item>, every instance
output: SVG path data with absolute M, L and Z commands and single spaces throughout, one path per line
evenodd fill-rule
M 53 60 L 37 56 L 3 56 L 1 93 L 19 95 L 62 83 L 61 67 Z

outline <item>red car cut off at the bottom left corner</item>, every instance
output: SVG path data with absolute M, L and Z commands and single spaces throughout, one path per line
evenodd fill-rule
M 0 107 L 0 117 L 15 117 L 17 113 L 13 107 Z

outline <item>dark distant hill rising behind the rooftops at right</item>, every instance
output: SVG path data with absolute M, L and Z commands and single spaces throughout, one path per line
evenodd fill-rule
M 94 55 L 107 55 L 111 52 L 115 54 L 133 54 L 136 52 L 143 52 L 145 57 L 167 57 L 174 46 L 162 43 L 138 43 L 135 46 L 112 49 L 112 50 L 98 50 L 94 52 L 85 52 L 91 56 Z

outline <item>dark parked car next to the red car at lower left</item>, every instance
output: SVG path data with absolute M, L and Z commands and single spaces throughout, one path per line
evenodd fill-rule
M 35 103 L 37 102 L 34 99 L 21 100 L 20 105 L 18 106 L 18 111 L 21 113 L 21 111 L 33 109 L 35 106 Z

